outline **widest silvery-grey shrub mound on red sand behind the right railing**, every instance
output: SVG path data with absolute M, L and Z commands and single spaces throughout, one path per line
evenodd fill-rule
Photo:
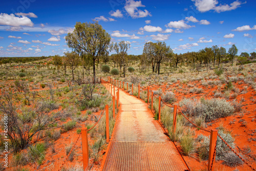
M 233 106 L 224 99 L 201 99 L 201 101 L 183 99 L 180 101 L 180 106 L 184 114 L 204 117 L 206 122 L 230 116 L 234 112 Z

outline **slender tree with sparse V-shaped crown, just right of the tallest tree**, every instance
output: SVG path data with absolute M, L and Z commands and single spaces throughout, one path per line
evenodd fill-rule
M 118 57 L 121 59 L 121 63 L 123 66 L 123 77 L 125 77 L 125 60 L 127 58 L 127 50 L 130 49 L 130 47 L 131 44 L 129 41 L 120 41 L 119 44 L 116 43 L 114 45 L 114 50 L 116 51 Z

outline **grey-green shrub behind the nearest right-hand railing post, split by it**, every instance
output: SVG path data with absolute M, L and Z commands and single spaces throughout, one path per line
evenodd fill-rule
M 232 147 L 234 148 L 234 139 L 229 133 L 224 131 L 218 131 L 220 136 Z M 210 136 L 201 136 L 200 146 L 198 148 L 199 157 L 202 160 L 208 159 L 209 156 L 209 144 Z M 217 139 L 217 148 L 216 148 L 216 160 L 223 160 L 224 156 L 230 152 L 230 149 L 227 145 L 218 137 Z

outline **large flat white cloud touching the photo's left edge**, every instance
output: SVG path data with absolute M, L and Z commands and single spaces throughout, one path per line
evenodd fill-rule
M 14 14 L 9 15 L 6 13 L 1 13 L 0 14 L 0 25 L 14 26 L 14 27 L 19 27 L 19 26 L 32 27 L 34 24 L 26 16 L 17 17 Z

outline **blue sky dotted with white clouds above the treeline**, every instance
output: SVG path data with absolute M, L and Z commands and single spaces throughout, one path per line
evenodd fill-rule
M 63 55 L 76 22 L 98 20 L 113 42 L 131 42 L 141 54 L 148 41 L 175 53 L 235 44 L 256 51 L 256 1 L 224 0 L 11 0 L 0 6 L 0 56 Z

